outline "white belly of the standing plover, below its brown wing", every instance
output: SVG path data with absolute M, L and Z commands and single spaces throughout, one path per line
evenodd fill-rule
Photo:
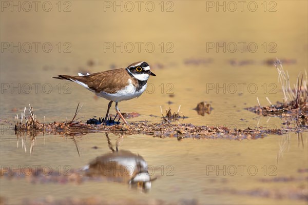
M 119 102 L 122 100 L 129 100 L 135 97 L 139 97 L 145 91 L 145 89 L 146 84 L 139 91 L 136 91 L 136 87 L 134 87 L 132 84 L 129 84 L 123 90 L 119 90 L 118 92 L 112 94 L 106 92 L 100 92 L 95 94 L 100 97 L 104 97 L 105 99 Z

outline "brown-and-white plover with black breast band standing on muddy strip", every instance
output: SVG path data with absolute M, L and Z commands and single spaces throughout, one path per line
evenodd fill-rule
M 120 113 L 118 103 L 122 100 L 139 97 L 146 89 L 149 76 L 156 76 L 150 71 L 150 66 L 143 61 L 133 63 L 127 68 L 107 70 L 93 74 L 87 73 L 87 75 L 78 73 L 78 75 L 58 75 L 54 78 L 73 81 L 94 92 L 96 95 L 110 100 L 106 117 L 103 121 L 104 124 L 107 121 L 109 109 L 113 101 L 115 102 L 115 111 L 124 123 L 127 124 L 127 121 Z

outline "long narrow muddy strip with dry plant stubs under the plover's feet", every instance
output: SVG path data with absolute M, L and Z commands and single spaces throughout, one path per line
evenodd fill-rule
M 302 120 L 300 121 L 300 124 L 304 123 L 304 126 L 300 127 L 287 126 L 281 129 L 264 129 L 261 127 L 256 129 L 251 129 L 248 127 L 246 129 L 241 130 L 241 129 L 229 129 L 222 126 L 221 127 L 195 126 L 192 124 L 174 125 L 170 123 L 169 119 L 178 119 L 179 117 L 182 118 L 182 116 L 180 116 L 178 113 L 171 114 L 170 109 L 166 110 L 167 114 L 166 116 L 164 116 L 164 120 L 160 123 L 147 124 L 146 122 L 139 122 L 139 123 L 131 122 L 129 125 L 123 125 L 123 124 L 114 124 L 112 126 L 90 125 L 83 123 L 82 120 L 79 120 L 79 118 L 75 119 L 80 109 L 81 108 L 79 108 L 78 104 L 72 120 L 68 122 L 52 122 L 49 124 L 45 124 L 45 117 L 44 117 L 44 122 L 42 124 L 41 122 L 36 120 L 36 116 L 33 114 L 33 108 L 30 106 L 29 110 L 31 116 L 26 117 L 25 114 L 22 114 L 25 120 L 19 122 L 17 119 L 15 125 L 15 133 L 17 136 L 22 136 L 26 133 L 35 137 L 40 133 L 52 133 L 52 134 L 74 136 L 74 135 L 85 135 L 87 133 L 109 131 L 113 133 L 121 133 L 126 135 L 146 134 L 146 135 L 152 135 L 154 137 L 177 137 L 179 140 L 188 137 L 199 138 L 199 139 L 226 138 L 226 139 L 242 140 L 242 139 L 263 138 L 267 134 L 281 135 L 290 131 L 304 132 L 308 130 L 308 126 L 306 125 L 307 122 L 306 115 L 299 115 L 297 117 L 298 119 Z M 100 120 L 102 121 L 102 119 Z

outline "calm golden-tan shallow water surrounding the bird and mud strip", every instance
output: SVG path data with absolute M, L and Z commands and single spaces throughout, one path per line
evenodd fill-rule
M 110 152 L 104 133 L 74 137 L 80 156 L 70 136 L 39 135 L 32 151 L 30 138 L 17 138 L 9 124 L 15 122 L 15 115 L 20 116 L 28 104 L 33 106 L 40 121 L 43 121 L 43 116 L 47 122 L 70 119 L 78 103 L 83 105 L 79 116 L 84 116 L 84 119 L 103 116 L 107 100 L 95 99 L 93 93 L 81 86 L 51 77 L 58 74 L 73 75 L 80 71 L 93 73 L 108 70 L 112 66 L 125 67 L 140 60 L 147 61 L 157 76 L 149 78 L 147 93 L 119 103 L 121 112 L 141 114 L 128 119 L 129 122 L 159 122 L 160 106 L 163 111 L 170 107 L 175 112 L 181 105 L 180 113 L 188 118 L 180 119 L 180 123 L 238 129 L 284 126 L 284 121 L 279 117 L 259 116 L 244 108 L 257 105 L 257 97 L 261 105 L 268 105 L 265 97 L 272 103 L 282 99 L 277 70 L 272 65 L 264 64 L 264 60 L 276 57 L 288 59 L 283 66 L 290 74 L 292 85 L 298 73 L 307 69 L 307 2 L 276 2 L 276 12 L 264 12 L 261 2 L 258 2 L 260 9 L 255 12 L 207 11 L 208 2 L 196 1 L 191 4 L 188 1 L 174 1 L 173 12 L 161 12 L 159 2 L 155 2 L 157 9 L 153 12 L 127 12 L 125 9 L 123 12 L 113 12 L 109 8 L 104 11 L 106 2 L 103 1 L 92 1 L 91 4 L 85 1 L 71 2 L 70 12 L 56 9 L 50 12 L 1 12 L 2 42 L 50 42 L 53 46 L 49 53 L 42 49 L 37 53 L 33 50 L 26 53 L 23 49 L 20 53 L 16 49 L 13 52 L 9 49 L 1 52 L 1 166 L 23 168 L 41 165 L 51 166 L 53 171 L 65 166 L 79 169 L 95 157 Z M 165 5 L 164 9 L 170 5 Z M 266 9 L 271 6 L 268 3 Z M 58 8 L 55 3 L 53 8 Z M 59 42 L 62 45 L 60 52 L 57 46 Z M 69 44 L 64 45 L 66 42 Z M 104 43 L 110 42 L 116 42 L 117 45 L 121 42 L 124 45 L 127 42 L 135 45 L 136 42 L 151 42 L 156 49 L 151 53 L 145 49 L 140 52 L 135 49 L 130 53 L 127 52 L 128 47 L 126 50 L 123 48 L 123 52 L 120 49 L 115 52 L 112 49 L 104 51 Z M 164 45 L 163 52 L 161 42 Z M 216 52 L 211 49 L 207 52 L 207 44 L 213 42 L 234 42 L 237 45 L 239 42 L 254 42 L 258 50 L 250 52 L 246 48 L 241 52 L 238 48 L 236 52 L 230 52 L 230 49 Z M 264 42 L 267 45 L 265 52 L 262 46 Z M 271 43 L 277 46 L 275 53 L 269 52 L 273 45 Z M 64 53 L 67 45 L 71 45 L 70 53 Z M 174 45 L 170 50 L 174 51 L 172 53 L 167 52 L 170 45 Z M 199 63 L 187 63 L 189 59 L 194 59 L 195 63 L 199 60 Z M 245 61 L 246 64 L 234 66 L 229 63 L 232 59 L 236 62 Z M 93 66 L 87 64 L 89 60 L 94 62 Z M 295 63 L 290 63 L 293 60 Z M 5 86 L 9 86 L 8 89 Z M 17 89 L 11 90 L 12 87 Z M 50 87 L 52 90 L 49 90 Z M 217 87 L 222 89 L 217 90 Z M 174 94 L 174 97 L 170 97 L 170 94 Z M 203 100 L 214 108 L 205 116 L 192 110 Z M 172 104 L 168 105 L 168 101 L 172 101 Z M 115 111 L 111 110 L 111 113 Z M 115 145 L 119 136 L 109 136 Z M 307 132 L 301 135 L 268 135 L 243 141 L 177 141 L 176 138 L 129 135 L 124 136 L 119 149 L 140 154 L 148 165 L 155 168 L 153 176 L 157 180 L 152 182 L 146 194 L 116 182 L 87 181 L 81 185 L 59 185 L 1 178 L 0 196 L 11 204 L 23 203 L 25 199 L 39 200 L 45 196 L 53 199 L 101 197 L 114 203 L 117 203 L 117 199 L 128 203 L 131 200 L 149 202 L 161 199 L 170 203 L 181 200 L 191 203 L 194 201 L 189 200 L 196 200 L 200 204 L 303 204 L 306 200 L 297 200 L 285 196 L 285 193 L 291 193 L 295 188 L 306 193 L 307 179 L 291 182 L 261 182 L 260 179 L 306 177 L 307 172 L 300 173 L 298 169 L 307 169 L 308 166 L 307 139 Z M 25 146 L 22 145 L 24 140 Z M 98 149 L 92 149 L 94 146 Z M 208 169 L 216 169 L 216 166 L 220 169 L 225 166 L 226 170 L 207 173 Z M 238 169 L 232 175 L 228 171 L 234 166 Z M 244 169 L 241 174 L 239 166 L 252 166 L 257 168 L 257 173 L 253 175 Z M 275 171 L 270 175 L 273 169 Z M 285 197 L 277 199 L 258 194 L 228 193 L 223 189 L 278 190 Z

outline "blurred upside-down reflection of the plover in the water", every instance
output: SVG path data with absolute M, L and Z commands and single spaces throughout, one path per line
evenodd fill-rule
M 151 179 L 147 171 L 147 162 L 138 154 L 127 150 L 118 150 L 118 143 L 115 150 L 112 147 L 108 133 L 106 133 L 109 149 L 107 153 L 92 160 L 89 165 L 83 168 L 85 175 L 89 177 L 107 177 L 108 180 L 128 183 L 130 188 L 148 192 L 151 188 Z

